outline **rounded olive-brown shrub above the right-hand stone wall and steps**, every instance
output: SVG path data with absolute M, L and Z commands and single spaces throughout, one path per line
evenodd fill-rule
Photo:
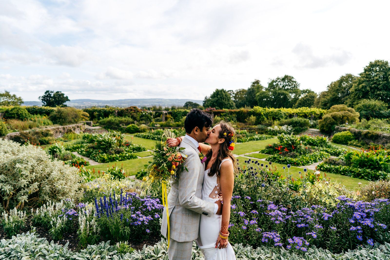
M 346 105 L 334 105 L 326 111 L 321 120 L 318 120 L 318 127 L 321 132 L 330 133 L 335 126 L 348 122 L 349 124 L 359 120 L 359 113 Z

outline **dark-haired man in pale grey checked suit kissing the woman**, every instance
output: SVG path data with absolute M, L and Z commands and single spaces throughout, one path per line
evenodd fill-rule
M 220 200 L 216 203 L 202 200 L 205 165 L 199 157 L 199 143 L 210 134 L 211 116 L 197 108 L 191 109 L 184 121 L 186 136 L 179 147 L 184 147 L 187 158 L 184 166 L 188 172 L 177 170 L 176 180 L 170 182 L 168 211 L 170 223 L 169 260 L 191 260 L 192 242 L 199 234 L 200 214 L 222 214 Z M 167 210 L 163 210 L 161 234 L 167 237 Z

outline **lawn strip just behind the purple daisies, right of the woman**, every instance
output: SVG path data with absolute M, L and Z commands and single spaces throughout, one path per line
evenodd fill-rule
M 252 156 L 252 154 L 250 154 L 250 156 Z M 237 159 L 239 159 L 240 166 L 246 165 L 244 163 L 245 160 L 253 160 L 253 161 L 255 161 L 255 159 L 249 159 L 249 158 L 245 158 L 245 157 L 237 157 Z M 259 161 L 259 163 L 264 163 L 264 167 L 265 167 L 266 164 L 268 164 L 268 166 L 269 166 L 269 163 L 266 162 L 266 161 Z M 284 164 L 272 163 L 271 166 L 273 168 L 276 167 L 277 170 L 280 171 L 280 172 L 283 172 L 283 171 L 287 172 L 287 170 L 288 170 L 287 165 L 284 165 Z M 286 167 L 285 170 L 283 170 L 283 166 Z M 296 167 L 296 166 L 291 166 L 290 169 L 289 169 L 289 173 L 291 175 L 293 175 L 293 178 L 299 178 L 299 172 L 303 173 L 303 168 Z M 324 172 L 321 172 L 321 174 L 324 174 Z M 359 185 L 358 185 L 359 182 L 362 183 L 362 185 L 361 185 L 362 187 L 365 186 L 369 182 L 368 180 L 352 178 L 352 177 L 348 177 L 348 176 L 345 176 L 345 175 L 334 174 L 334 173 L 326 173 L 326 177 L 330 178 L 332 181 L 340 182 L 347 189 L 352 189 L 352 190 L 353 189 L 357 189 L 359 187 Z

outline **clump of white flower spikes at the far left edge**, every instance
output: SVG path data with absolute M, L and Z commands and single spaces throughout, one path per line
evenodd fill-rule
M 11 237 L 20 232 L 20 229 L 25 226 L 26 212 L 16 208 L 2 213 L 1 225 L 7 236 Z

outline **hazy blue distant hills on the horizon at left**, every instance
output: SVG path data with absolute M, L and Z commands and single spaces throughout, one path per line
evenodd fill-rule
M 75 108 L 90 108 L 92 106 L 105 107 L 105 106 L 114 106 L 114 107 L 129 107 L 129 106 L 183 106 L 187 101 L 198 103 L 202 105 L 202 100 L 194 99 L 117 99 L 117 100 L 95 100 L 95 99 L 74 99 L 66 102 L 67 106 L 73 106 Z M 25 101 L 22 106 L 42 106 L 42 102 L 39 101 Z

